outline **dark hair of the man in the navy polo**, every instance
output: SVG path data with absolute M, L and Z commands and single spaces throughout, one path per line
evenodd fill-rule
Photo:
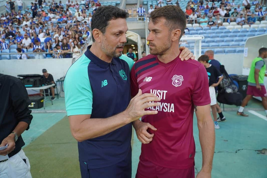
M 97 8 L 96 12 L 92 16 L 91 29 L 99 29 L 101 33 L 105 34 L 109 21 L 116 20 L 117 18 L 128 18 L 128 12 L 120 9 L 116 6 L 101 6 Z M 93 42 L 95 41 L 92 35 Z

